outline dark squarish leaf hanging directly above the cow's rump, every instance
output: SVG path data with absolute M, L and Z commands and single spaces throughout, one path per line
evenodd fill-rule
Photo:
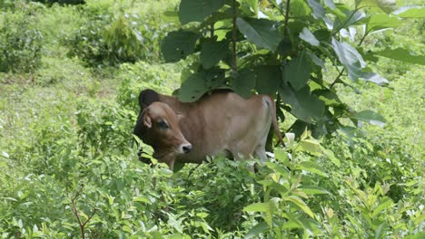
M 278 65 L 259 65 L 254 67 L 255 89 L 261 94 L 273 95 L 281 85 L 282 75 Z

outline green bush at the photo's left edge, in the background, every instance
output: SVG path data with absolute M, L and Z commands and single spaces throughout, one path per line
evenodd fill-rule
M 38 5 L 22 5 L 0 16 L 0 72 L 34 72 L 41 64 L 43 34 L 36 28 Z

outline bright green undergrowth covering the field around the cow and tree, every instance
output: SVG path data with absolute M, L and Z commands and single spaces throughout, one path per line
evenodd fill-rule
M 334 86 L 347 110 L 373 110 L 384 125 L 339 119 L 345 127 L 326 137 L 292 130 L 295 139 L 255 174 L 246 167 L 255 159 L 226 158 L 173 173 L 137 160 L 132 129 L 139 91 L 172 93 L 199 65 L 197 55 L 164 63 L 161 54 L 167 33 L 182 27 L 173 14 L 179 1 L 64 5 L 80 2 L 0 3 L 2 238 L 425 236 L 423 63 L 379 58 L 368 67 L 388 86 Z M 406 18 L 362 47 L 423 56 L 424 29 L 424 18 Z M 331 83 L 339 72 L 324 63 Z M 282 130 L 300 119 L 288 109 Z

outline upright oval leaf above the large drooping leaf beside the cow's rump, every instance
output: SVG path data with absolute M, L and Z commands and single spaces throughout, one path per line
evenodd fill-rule
M 301 53 L 284 66 L 283 79 L 291 83 L 293 90 L 299 91 L 309 81 L 310 73 L 310 62 L 307 61 L 306 54 Z

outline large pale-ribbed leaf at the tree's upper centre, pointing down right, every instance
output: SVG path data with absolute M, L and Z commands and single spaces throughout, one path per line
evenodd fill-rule
M 248 42 L 259 47 L 275 52 L 282 36 L 278 31 L 276 22 L 267 19 L 236 19 L 239 31 L 246 37 Z

